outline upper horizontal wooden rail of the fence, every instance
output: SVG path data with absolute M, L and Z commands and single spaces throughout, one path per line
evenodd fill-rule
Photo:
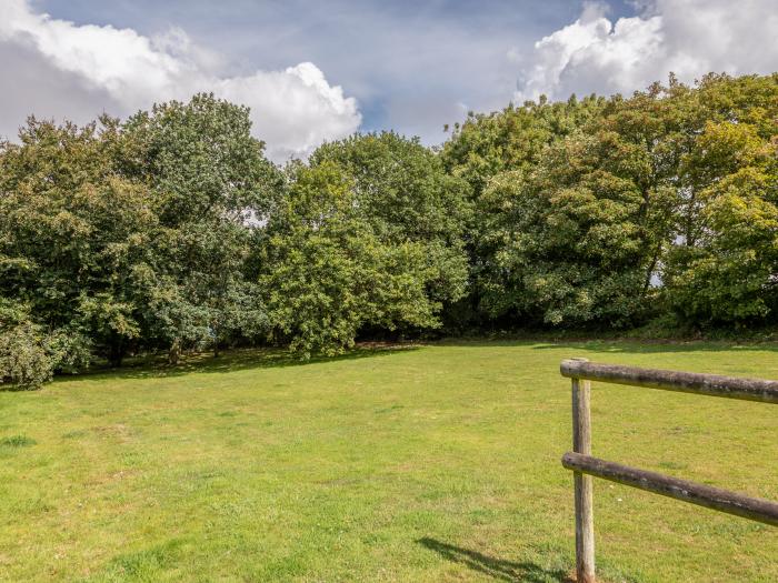
M 562 376 L 570 379 L 778 404 L 778 381 L 597 364 L 580 360 L 562 361 L 559 369 Z

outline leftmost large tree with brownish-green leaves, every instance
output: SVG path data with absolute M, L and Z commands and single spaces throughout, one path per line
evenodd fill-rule
M 31 118 L 20 139 L 0 145 L 0 295 L 119 364 L 141 330 L 151 194 L 117 170 L 116 120 L 79 129 Z

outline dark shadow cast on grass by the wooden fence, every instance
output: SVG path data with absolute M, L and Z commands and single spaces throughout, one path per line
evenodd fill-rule
M 541 583 L 547 581 L 571 582 L 572 580 L 562 570 L 543 569 L 535 563 L 506 561 L 469 549 L 455 546 L 435 539 L 425 536 L 416 541 L 430 551 L 452 563 L 459 563 L 472 571 L 488 575 L 498 581 L 521 581 L 525 583 Z

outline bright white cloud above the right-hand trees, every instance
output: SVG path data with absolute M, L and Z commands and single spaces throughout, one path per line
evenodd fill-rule
M 630 94 L 670 71 L 690 82 L 708 72 L 778 69 L 776 0 L 650 0 L 636 17 L 611 22 L 587 3 L 569 24 L 535 43 L 515 100 L 570 93 Z M 517 61 L 510 52 L 509 60 Z

